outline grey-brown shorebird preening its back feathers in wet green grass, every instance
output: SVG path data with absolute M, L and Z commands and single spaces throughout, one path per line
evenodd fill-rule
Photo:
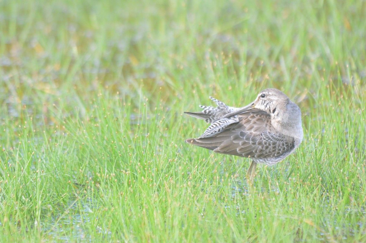
M 235 108 L 210 97 L 217 107 L 184 112 L 211 125 L 198 138 L 186 140 L 216 153 L 249 157 L 246 177 L 253 184 L 257 164 L 272 166 L 295 151 L 303 138 L 301 111 L 283 92 L 268 88 L 247 106 Z

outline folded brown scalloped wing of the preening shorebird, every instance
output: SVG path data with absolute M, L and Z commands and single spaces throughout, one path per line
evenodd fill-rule
M 204 136 L 209 130 L 207 129 L 201 137 L 188 139 L 186 142 L 217 153 L 250 157 L 257 163 L 274 161 L 276 157 L 283 159 L 284 154 L 293 151 L 294 138 L 276 133 L 270 115 L 264 111 L 254 109 L 232 118 L 236 117 L 238 121 L 223 122 L 219 132 Z

